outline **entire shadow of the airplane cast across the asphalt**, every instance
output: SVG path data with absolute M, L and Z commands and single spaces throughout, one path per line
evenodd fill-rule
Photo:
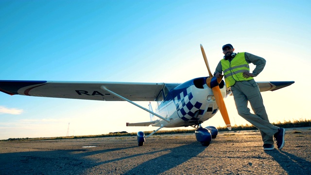
M 137 146 L 112 148 L 106 150 L 88 151 L 87 149 L 75 150 L 51 150 L 51 151 L 29 151 L 0 154 L 1 175 L 69 175 L 86 174 L 89 169 L 98 165 L 115 162 L 127 158 L 139 158 L 140 156 L 153 155 L 159 152 L 168 152 L 165 155 L 148 159 L 137 167 L 129 170 L 125 175 L 133 174 L 160 174 L 174 168 L 192 157 L 196 157 L 207 147 L 199 142 L 192 142 L 174 148 L 166 148 L 151 152 L 138 153 L 127 157 L 95 162 L 86 157 L 125 149 L 137 148 Z M 143 149 L 143 147 L 142 147 Z

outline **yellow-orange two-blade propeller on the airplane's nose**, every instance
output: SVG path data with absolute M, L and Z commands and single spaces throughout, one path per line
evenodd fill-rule
M 209 74 L 209 77 L 207 77 L 207 79 L 206 79 L 206 84 L 209 88 L 212 89 L 216 103 L 217 103 L 217 106 L 220 110 L 220 113 L 223 116 L 225 124 L 226 124 L 227 128 L 229 130 L 231 130 L 231 124 L 230 124 L 227 108 L 225 107 L 225 102 L 224 102 L 222 93 L 220 91 L 220 88 L 218 86 L 219 83 L 222 81 L 224 75 L 221 75 L 219 78 L 216 78 L 213 76 L 213 74 L 211 73 L 211 71 L 209 69 L 207 57 L 206 57 L 206 54 L 205 54 L 205 51 L 204 51 L 202 44 L 200 44 L 200 47 L 201 47 L 202 55 L 203 55 L 203 58 L 204 58 L 204 61 L 205 61 L 205 64 L 206 64 L 206 67 L 208 70 L 208 74 Z

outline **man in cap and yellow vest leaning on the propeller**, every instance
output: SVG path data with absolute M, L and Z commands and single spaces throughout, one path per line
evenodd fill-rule
M 266 60 L 250 53 L 234 53 L 231 44 L 223 46 L 223 53 L 224 59 L 217 65 L 214 76 L 218 78 L 224 72 L 226 88 L 231 87 L 238 113 L 259 129 L 263 150 L 274 150 L 273 136 L 277 148 L 281 150 L 285 143 L 285 129 L 269 122 L 259 87 L 253 78 L 263 70 Z M 249 71 L 249 63 L 256 65 L 252 73 Z M 255 114 L 250 113 L 248 102 Z

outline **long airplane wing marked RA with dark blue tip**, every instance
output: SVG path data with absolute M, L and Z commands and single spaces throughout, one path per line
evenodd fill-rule
M 168 84 L 178 86 L 179 84 Z M 0 80 L 0 91 L 10 95 L 69 99 L 123 101 L 101 89 L 101 86 L 131 101 L 154 101 L 164 83 L 67 82 Z

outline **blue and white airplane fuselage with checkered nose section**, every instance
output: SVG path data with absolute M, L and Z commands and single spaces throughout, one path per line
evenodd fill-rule
M 213 117 L 218 111 L 211 88 L 206 85 L 206 78 L 201 77 L 187 81 L 176 88 L 161 90 L 156 98 L 155 113 L 170 120 L 155 120 L 153 126 L 181 127 L 198 125 Z M 221 83 L 221 92 L 225 97 L 224 82 Z M 165 93 L 168 91 L 167 93 Z M 164 99 L 164 100 L 162 100 Z

